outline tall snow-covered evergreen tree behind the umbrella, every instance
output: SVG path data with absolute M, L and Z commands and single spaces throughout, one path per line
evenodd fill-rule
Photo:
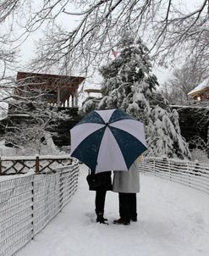
M 179 115 L 156 91 L 157 77 L 151 73 L 147 47 L 131 36 L 124 36 L 120 47 L 118 58 L 100 70 L 102 99 L 85 101 L 83 111 L 123 109 L 145 124 L 146 155 L 190 159 L 188 143 L 180 134 Z

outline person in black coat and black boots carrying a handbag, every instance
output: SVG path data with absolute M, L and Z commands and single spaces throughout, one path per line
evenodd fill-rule
M 95 179 L 94 182 L 87 181 L 89 183 L 89 189 L 92 191 L 96 191 L 96 197 L 95 197 L 95 211 L 96 211 L 96 222 L 107 224 L 107 219 L 104 218 L 104 206 L 105 206 L 105 198 L 106 193 L 108 190 L 112 190 L 112 179 L 111 179 L 111 171 L 105 171 L 101 173 L 94 174 L 91 171 L 91 179 Z

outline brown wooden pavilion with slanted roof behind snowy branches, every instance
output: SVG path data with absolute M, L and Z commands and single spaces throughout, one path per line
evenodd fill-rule
M 15 95 L 47 100 L 58 106 L 77 107 L 78 88 L 85 77 L 18 72 Z M 71 97 L 71 104 L 70 104 Z

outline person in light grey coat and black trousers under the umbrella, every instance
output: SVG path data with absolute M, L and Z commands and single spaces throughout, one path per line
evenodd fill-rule
M 137 221 L 136 193 L 140 192 L 139 163 L 135 160 L 128 171 L 114 170 L 113 192 L 118 192 L 119 216 L 114 224 L 129 225 L 130 220 Z

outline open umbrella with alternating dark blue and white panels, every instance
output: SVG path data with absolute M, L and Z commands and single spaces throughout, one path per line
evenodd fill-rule
M 121 109 L 94 110 L 70 132 L 71 156 L 96 173 L 129 170 L 146 151 L 144 125 Z

